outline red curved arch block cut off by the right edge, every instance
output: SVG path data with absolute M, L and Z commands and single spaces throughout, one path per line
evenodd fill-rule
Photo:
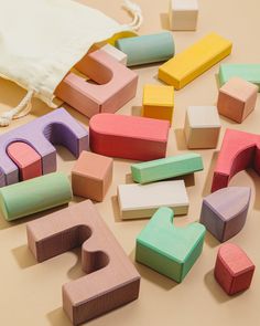
M 249 167 L 259 173 L 259 135 L 227 129 L 214 170 L 212 192 L 227 187 L 236 173 Z

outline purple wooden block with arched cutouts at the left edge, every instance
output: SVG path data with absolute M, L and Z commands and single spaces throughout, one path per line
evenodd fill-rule
M 0 136 L 0 187 L 19 182 L 18 166 L 7 154 L 10 144 L 22 141 L 42 158 L 42 173 L 56 170 L 56 149 L 63 145 L 78 157 L 88 149 L 88 130 L 64 108 L 55 109 L 35 120 Z

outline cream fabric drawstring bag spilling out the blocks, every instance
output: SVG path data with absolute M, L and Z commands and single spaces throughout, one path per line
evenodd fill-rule
M 33 96 L 54 106 L 54 91 L 94 43 L 142 23 L 139 6 L 124 0 L 133 15 L 119 24 L 73 0 L 0 0 L 0 77 L 28 91 L 21 103 L 0 115 L 0 126 L 26 115 Z

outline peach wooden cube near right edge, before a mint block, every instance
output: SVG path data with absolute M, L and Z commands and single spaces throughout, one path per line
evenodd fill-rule
M 218 93 L 220 115 L 241 124 L 254 109 L 258 86 L 238 77 L 229 80 Z

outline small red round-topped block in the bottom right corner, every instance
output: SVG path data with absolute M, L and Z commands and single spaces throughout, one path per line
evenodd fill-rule
M 250 287 L 254 265 L 236 244 L 223 244 L 217 254 L 215 278 L 228 295 Z

